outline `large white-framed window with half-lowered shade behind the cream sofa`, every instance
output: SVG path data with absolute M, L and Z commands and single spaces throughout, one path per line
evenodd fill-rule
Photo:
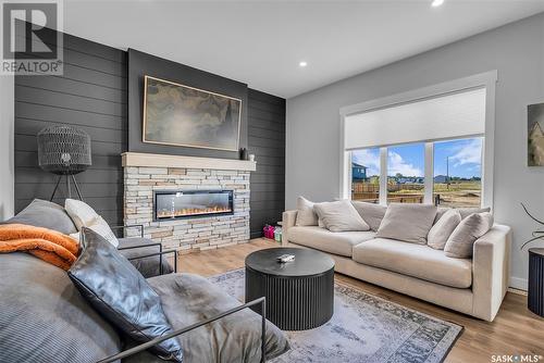
M 496 80 L 493 71 L 341 108 L 341 198 L 493 208 Z M 357 160 L 376 165 L 361 180 Z

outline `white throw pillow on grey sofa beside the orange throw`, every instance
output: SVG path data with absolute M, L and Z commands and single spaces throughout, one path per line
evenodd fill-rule
M 90 228 L 106 238 L 113 246 L 119 246 L 119 240 L 108 223 L 89 204 L 81 200 L 66 199 L 64 202 L 64 209 L 72 221 L 74 221 L 77 230 L 81 231 L 83 227 Z M 72 234 L 70 237 L 79 241 L 79 233 Z

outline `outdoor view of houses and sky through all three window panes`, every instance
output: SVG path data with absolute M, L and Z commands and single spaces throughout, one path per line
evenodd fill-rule
M 482 138 L 433 143 L 433 201 L 444 206 L 481 203 Z M 425 145 L 387 147 L 387 203 L 424 200 Z M 380 148 L 351 151 L 351 199 L 380 202 Z

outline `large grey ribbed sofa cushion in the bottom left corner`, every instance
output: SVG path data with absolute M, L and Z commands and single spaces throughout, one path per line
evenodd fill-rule
M 121 340 L 66 272 L 27 253 L 0 254 L 0 362 L 90 363 Z

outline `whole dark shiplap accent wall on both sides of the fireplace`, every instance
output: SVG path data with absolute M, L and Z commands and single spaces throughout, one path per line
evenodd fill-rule
M 64 63 L 63 76 L 15 77 L 15 212 L 34 198 L 49 199 L 57 180 L 38 166 L 36 134 L 49 125 L 69 124 L 87 132 L 92 140 L 92 166 L 76 176 L 85 201 L 108 223 L 121 225 L 121 153 L 128 149 L 127 52 L 64 35 Z M 189 71 L 196 79 L 205 75 Z M 221 80 L 220 88 L 247 90 L 247 141 L 244 137 L 242 141 L 257 159 L 250 217 L 251 237 L 259 237 L 262 226 L 281 221 L 284 210 L 285 100 L 219 76 L 209 79 Z M 235 158 L 235 153 L 199 155 Z M 54 201 L 62 204 L 65 191 L 62 184 Z

